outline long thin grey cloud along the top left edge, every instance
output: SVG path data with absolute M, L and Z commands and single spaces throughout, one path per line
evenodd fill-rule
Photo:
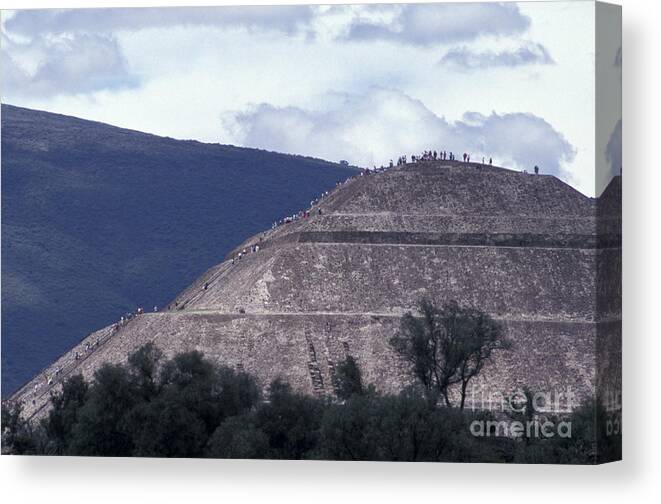
M 21 10 L 8 19 L 5 29 L 35 36 L 57 33 L 112 33 L 171 26 L 217 26 L 296 32 L 310 21 L 310 6 L 160 7 L 116 9 Z

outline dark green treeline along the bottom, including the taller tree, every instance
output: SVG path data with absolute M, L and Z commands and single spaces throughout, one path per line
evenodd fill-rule
M 276 380 L 265 396 L 255 379 L 200 352 L 164 359 L 147 344 L 126 364 L 106 364 L 87 382 L 73 376 L 51 396 L 38 424 L 20 406 L 2 408 L 3 453 L 382 461 L 587 464 L 617 458 L 620 438 L 586 404 L 562 418 L 571 436 L 476 435 L 503 413 L 464 409 L 468 381 L 509 344 L 497 324 L 456 304 L 405 316 L 391 345 L 411 363 L 416 385 L 397 395 L 365 386 L 351 358 L 336 368 L 335 398 L 294 392 Z M 442 328 L 445 329 L 442 330 Z M 461 393 L 453 404 L 449 386 Z M 534 421 L 532 408 L 508 414 Z M 551 419 L 558 422 L 560 419 Z M 493 427 L 493 426 L 492 426 Z M 479 430 L 479 429 L 478 429 Z M 612 434 L 612 433 L 611 433 Z M 619 432 L 618 432 L 619 436 Z M 597 452 L 597 444 L 604 450 Z

